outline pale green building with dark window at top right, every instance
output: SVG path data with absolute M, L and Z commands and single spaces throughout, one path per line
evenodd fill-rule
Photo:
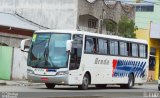
M 135 6 L 135 23 L 138 28 L 148 29 L 150 22 L 160 23 L 159 0 L 121 0 Z

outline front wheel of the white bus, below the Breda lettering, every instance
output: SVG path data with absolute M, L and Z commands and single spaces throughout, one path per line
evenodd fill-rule
M 78 85 L 78 88 L 82 90 L 87 90 L 89 83 L 90 83 L 89 75 L 85 74 L 82 80 L 82 85 Z

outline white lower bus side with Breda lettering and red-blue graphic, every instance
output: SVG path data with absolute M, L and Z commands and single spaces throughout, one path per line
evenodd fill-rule
M 135 83 L 146 82 L 147 59 L 84 54 L 81 70 L 91 73 L 91 84 L 126 84 L 134 74 Z

